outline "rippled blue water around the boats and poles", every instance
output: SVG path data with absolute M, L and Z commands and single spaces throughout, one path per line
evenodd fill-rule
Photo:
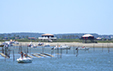
M 62 56 L 57 55 L 57 51 L 51 52 L 50 48 L 45 48 L 44 52 L 54 55 L 54 57 L 34 57 L 32 63 L 18 63 L 16 59 L 20 57 L 17 47 L 15 50 L 15 61 L 0 56 L 0 71 L 113 71 L 113 48 L 108 53 L 107 48 L 90 48 L 89 51 L 66 50 L 62 51 Z M 29 49 L 30 50 L 30 49 Z M 26 51 L 23 49 L 23 51 Z M 31 49 L 32 53 L 41 53 L 42 48 Z M 60 51 L 59 51 L 60 52 Z

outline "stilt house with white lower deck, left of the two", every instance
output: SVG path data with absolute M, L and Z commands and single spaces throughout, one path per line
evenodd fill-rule
M 49 41 L 49 42 L 51 42 L 53 40 L 56 40 L 57 38 L 54 37 L 53 34 L 42 34 L 42 36 L 39 37 L 38 39 L 41 40 L 41 41 Z

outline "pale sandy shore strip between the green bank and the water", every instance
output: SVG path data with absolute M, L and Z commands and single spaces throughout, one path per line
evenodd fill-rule
M 3 42 L 0 42 L 0 44 Z M 19 42 L 19 45 L 28 45 L 30 42 Z M 32 42 L 35 45 L 38 45 L 39 42 Z M 113 43 L 78 43 L 78 42 L 42 42 L 44 45 L 49 44 L 50 46 L 56 46 L 56 45 L 68 45 L 68 46 L 75 46 L 75 47 L 111 47 L 113 48 Z

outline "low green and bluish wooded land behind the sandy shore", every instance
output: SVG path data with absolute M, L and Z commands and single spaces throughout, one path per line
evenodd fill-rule
M 18 41 L 18 42 L 39 42 L 38 37 L 41 36 L 42 33 L 11 33 L 11 34 L 0 34 L 0 42 L 9 41 L 10 39 Z M 79 39 L 84 34 L 55 34 L 57 40 L 53 42 L 83 42 L 83 40 Z M 113 43 L 113 38 L 108 35 L 98 35 L 93 34 L 96 37 L 103 37 L 102 40 L 94 40 L 97 43 Z M 107 37 L 107 38 L 105 38 Z M 47 41 L 41 41 L 47 42 Z

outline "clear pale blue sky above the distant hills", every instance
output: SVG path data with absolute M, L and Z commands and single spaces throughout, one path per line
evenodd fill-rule
M 0 0 L 0 33 L 113 34 L 113 0 Z

